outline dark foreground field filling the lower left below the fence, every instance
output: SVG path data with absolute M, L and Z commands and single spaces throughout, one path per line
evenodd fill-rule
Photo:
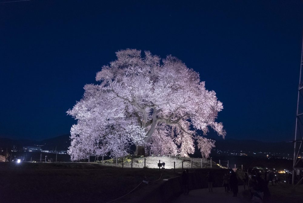
M 169 170 L 171 171 L 171 170 Z M 161 179 L 176 176 L 166 171 Z M 102 167 L 89 163 L 0 163 L 0 202 L 108 202 L 127 194 L 146 176 L 157 180 L 157 169 Z M 141 184 L 131 201 L 159 182 Z

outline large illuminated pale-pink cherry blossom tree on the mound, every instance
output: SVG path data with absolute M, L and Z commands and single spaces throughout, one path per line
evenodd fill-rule
M 224 138 L 222 123 L 215 121 L 222 103 L 214 91 L 205 89 L 199 74 L 171 55 L 161 60 L 144 53 L 116 52 L 117 60 L 97 73 L 99 84 L 85 85 L 83 98 L 68 111 L 77 120 L 70 154 L 122 156 L 135 144 L 137 155 L 146 150 L 188 156 L 195 139 L 201 138 L 197 130 L 206 135 L 211 127 Z M 205 140 L 199 146 L 213 146 Z M 208 149 L 204 145 L 201 150 Z

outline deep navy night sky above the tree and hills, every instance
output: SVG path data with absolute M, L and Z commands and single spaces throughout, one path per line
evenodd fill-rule
M 227 138 L 294 139 L 302 1 L 108 2 L 0 3 L 0 137 L 67 134 L 83 86 L 134 48 L 198 71 Z

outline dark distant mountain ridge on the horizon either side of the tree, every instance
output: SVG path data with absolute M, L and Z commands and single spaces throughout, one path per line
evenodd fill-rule
M 70 134 L 57 136 L 42 141 L 18 139 L 13 140 L 9 138 L 0 138 L 0 147 L 12 149 L 15 145 L 18 149 L 23 146 L 42 145 L 43 150 L 58 150 L 66 151 L 70 146 Z M 239 140 L 239 139 L 222 139 L 213 138 L 215 140 L 215 149 L 222 151 L 250 151 L 250 152 L 268 152 L 268 153 L 293 153 L 293 143 L 287 142 L 261 142 L 257 140 Z

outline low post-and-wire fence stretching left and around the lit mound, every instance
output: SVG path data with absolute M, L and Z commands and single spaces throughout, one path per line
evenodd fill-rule
M 73 156 L 60 153 L 22 153 L 21 162 L 74 162 Z M 17 157 L 10 161 L 17 161 Z M 102 161 L 101 161 L 102 158 Z M 244 170 L 243 165 L 230 164 L 229 160 L 212 160 L 190 157 L 116 157 L 108 158 L 88 156 L 81 162 L 99 163 L 105 166 L 115 166 L 123 168 L 165 168 L 165 169 L 196 169 L 196 168 L 231 168 L 233 170 Z

